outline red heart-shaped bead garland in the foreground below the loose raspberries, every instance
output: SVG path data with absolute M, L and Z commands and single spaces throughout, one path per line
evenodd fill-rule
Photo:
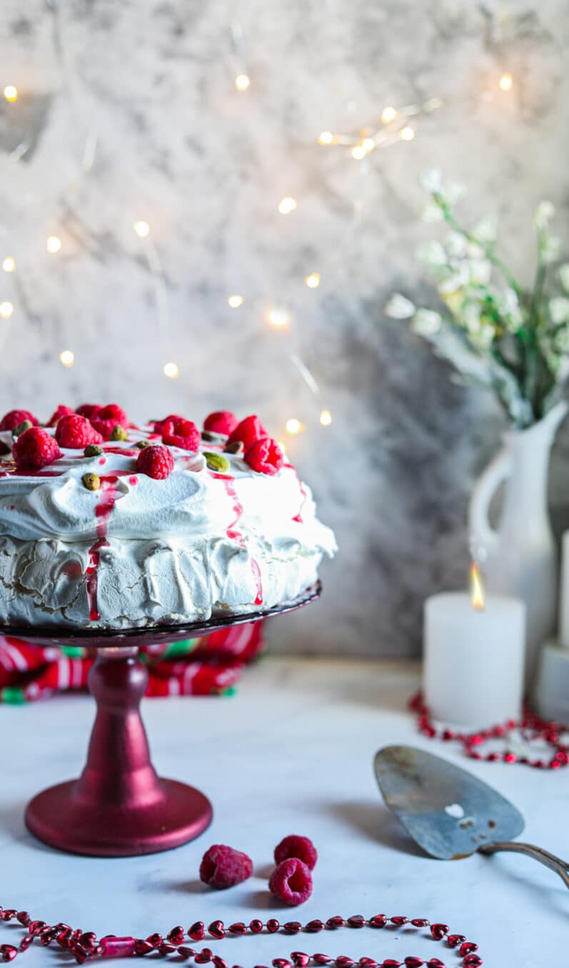
M 219 954 L 212 952 L 211 948 L 202 948 L 195 951 L 187 945 L 182 944 L 184 940 L 184 928 L 181 924 L 172 927 L 165 937 L 155 932 L 149 934 L 147 938 L 117 937 L 114 934 L 107 934 L 100 940 L 94 931 L 82 931 L 80 928 L 75 930 L 69 924 L 59 922 L 54 925 L 46 924 L 44 921 L 31 921 L 30 915 L 26 911 L 16 912 L 15 909 L 0 907 L 0 921 L 12 921 L 16 919 L 22 927 L 26 928 L 26 935 L 20 942 L 18 948 L 14 945 L 0 945 L 0 960 L 4 962 L 12 961 L 16 954 L 23 953 L 29 948 L 35 938 L 39 938 L 42 945 L 49 945 L 52 941 L 75 955 L 78 964 L 95 957 L 128 957 L 137 955 L 138 957 L 157 951 L 162 955 L 177 954 L 183 958 L 193 958 L 195 964 L 213 964 L 214 968 L 229 968 L 228 962 Z M 244 922 L 236 922 L 225 928 L 223 921 L 213 921 L 209 927 L 201 921 L 196 921 L 187 930 L 187 934 L 195 940 L 203 940 L 207 935 L 217 941 L 223 940 L 227 934 L 260 934 L 267 931 L 274 934 L 281 931 L 283 934 L 298 934 L 303 931 L 306 934 L 314 934 L 319 931 L 334 931 L 340 927 L 362 928 L 362 927 L 389 927 L 391 930 L 406 928 L 427 928 L 429 935 L 435 941 L 445 942 L 448 948 L 459 948 L 457 954 L 460 956 L 463 968 L 480 968 L 482 958 L 476 952 L 478 945 L 472 941 L 467 941 L 464 934 L 449 934 L 447 924 L 431 923 L 427 918 L 405 918 L 403 915 L 393 915 L 388 918 L 386 915 L 374 915 L 366 919 L 363 915 L 351 915 L 349 918 L 342 918 L 335 915 L 328 918 L 326 922 L 314 918 L 304 926 L 300 922 L 286 922 L 280 924 L 275 918 L 269 919 L 266 923 L 254 919 L 249 925 Z M 460 946 L 460 947 L 459 947 Z M 273 958 L 273 968 L 309 968 L 311 965 L 328 965 L 334 963 L 336 968 L 445 968 L 445 964 L 439 958 L 432 957 L 429 961 L 414 954 L 407 954 L 403 961 L 394 958 L 385 958 L 383 961 L 375 961 L 372 957 L 362 956 L 358 961 L 345 954 L 333 957 L 329 954 L 294 951 L 288 958 Z M 241 968 L 240 965 L 233 965 L 232 968 Z M 264 965 L 255 965 L 255 968 L 265 968 Z

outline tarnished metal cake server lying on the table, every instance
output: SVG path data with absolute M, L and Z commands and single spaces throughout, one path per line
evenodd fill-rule
M 471 773 L 413 746 L 380 749 L 374 771 L 387 806 L 432 857 L 455 861 L 475 851 L 513 851 L 545 863 L 569 888 L 569 863 L 513 841 L 524 830 L 524 817 Z

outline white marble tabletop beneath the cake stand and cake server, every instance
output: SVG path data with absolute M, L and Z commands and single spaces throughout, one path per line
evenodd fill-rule
M 194 843 L 124 860 L 58 853 L 23 825 L 33 794 L 80 770 L 92 701 L 62 697 L 0 708 L 0 904 L 48 923 L 135 936 L 196 920 L 249 921 L 257 913 L 305 923 L 333 914 L 404 914 L 467 935 L 486 968 L 564 963 L 569 896 L 554 873 L 516 855 L 457 862 L 421 855 L 382 805 L 372 761 L 378 747 L 408 742 L 470 765 L 520 807 L 524 837 L 561 857 L 569 855 L 569 771 L 471 764 L 449 746 L 420 739 L 405 711 L 417 681 L 418 669 L 409 664 L 268 658 L 246 674 L 234 697 L 146 701 L 155 765 L 206 792 L 215 817 Z M 311 836 L 319 861 L 311 899 L 284 911 L 266 878 L 275 844 L 290 832 Z M 220 842 L 249 853 L 255 876 L 211 892 L 197 870 L 205 849 Z M 20 937 L 0 924 L 0 943 Z M 270 965 L 292 950 L 462 963 L 446 945 L 406 929 L 232 938 L 211 947 L 246 968 Z M 40 946 L 22 957 L 29 968 L 75 963 Z

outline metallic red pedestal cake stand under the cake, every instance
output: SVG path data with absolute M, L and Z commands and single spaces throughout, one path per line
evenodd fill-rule
M 179 780 L 162 779 L 150 761 L 140 700 L 148 681 L 138 652 L 207 635 L 231 625 L 284 615 L 308 605 L 320 584 L 267 612 L 187 625 L 113 631 L 2 628 L 35 645 L 87 646 L 98 656 L 89 673 L 97 715 L 87 762 L 76 780 L 58 783 L 28 803 L 29 830 L 52 847 L 93 857 L 132 857 L 179 847 L 209 827 L 207 797 Z

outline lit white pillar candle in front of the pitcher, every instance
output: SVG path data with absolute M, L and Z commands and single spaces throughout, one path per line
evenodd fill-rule
M 525 606 L 462 592 L 425 602 L 424 696 L 434 719 L 474 729 L 518 719 L 524 690 Z

